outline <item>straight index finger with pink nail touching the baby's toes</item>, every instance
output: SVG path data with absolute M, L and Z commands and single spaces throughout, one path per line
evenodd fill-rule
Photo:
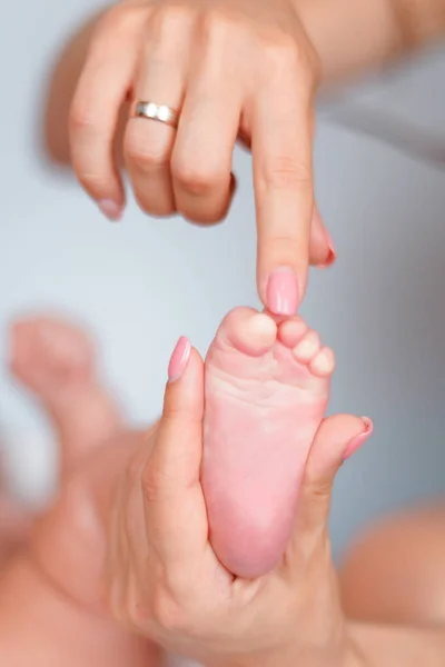
M 270 69 L 270 68 L 269 68 Z M 306 289 L 314 207 L 313 86 L 297 53 L 277 50 L 253 106 L 258 292 L 276 315 L 294 315 Z

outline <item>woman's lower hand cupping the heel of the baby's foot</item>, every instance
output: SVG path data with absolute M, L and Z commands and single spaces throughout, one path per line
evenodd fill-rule
M 184 361 L 160 421 L 148 434 L 118 435 L 66 481 L 34 537 L 40 567 L 95 611 L 208 665 L 286 665 L 303 655 L 305 665 L 343 665 L 353 649 L 327 517 L 338 466 L 368 425 L 349 416 L 323 422 L 281 566 L 256 581 L 235 579 L 208 541 L 199 482 L 202 361 L 196 350 Z

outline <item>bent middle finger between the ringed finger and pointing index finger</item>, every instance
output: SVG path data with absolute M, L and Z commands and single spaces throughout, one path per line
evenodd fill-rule
M 171 165 L 178 210 L 201 223 L 220 221 L 230 205 L 241 110 L 235 66 L 230 72 L 233 59 L 225 52 L 227 36 L 220 30 L 207 32 L 190 67 Z

